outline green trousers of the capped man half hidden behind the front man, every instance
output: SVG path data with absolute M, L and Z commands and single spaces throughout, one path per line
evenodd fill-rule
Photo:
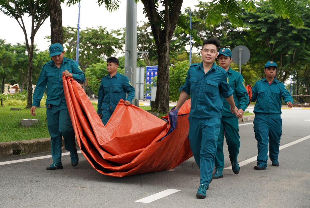
M 219 138 L 217 140 L 217 150 L 215 154 L 216 170 L 223 170 L 224 168 L 224 135 L 228 145 L 229 159 L 230 161 L 237 161 L 240 148 L 238 118 L 224 116 L 221 118 Z

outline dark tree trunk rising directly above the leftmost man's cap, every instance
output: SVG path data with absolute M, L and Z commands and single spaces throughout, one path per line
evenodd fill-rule
M 59 0 L 48 0 L 47 5 L 50 12 L 51 20 L 51 43 L 64 42 L 64 34 L 62 29 L 62 10 Z

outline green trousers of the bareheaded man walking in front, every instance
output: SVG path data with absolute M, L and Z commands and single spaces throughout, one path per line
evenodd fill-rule
M 195 161 L 200 168 L 200 184 L 209 186 L 214 167 L 220 119 L 188 117 L 188 121 L 188 139 Z

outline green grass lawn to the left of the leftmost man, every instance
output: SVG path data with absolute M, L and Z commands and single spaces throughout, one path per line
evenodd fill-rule
M 10 108 L 21 108 L 19 111 L 12 111 Z M 47 130 L 46 108 L 37 108 L 36 116 L 30 114 L 29 109 L 24 105 L 0 107 L 0 142 L 20 141 L 28 139 L 41 139 L 50 137 Z M 39 123 L 32 127 L 22 127 L 21 119 L 39 119 Z

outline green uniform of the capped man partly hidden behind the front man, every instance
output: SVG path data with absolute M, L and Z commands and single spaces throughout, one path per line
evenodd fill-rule
M 229 85 L 234 90 L 233 100 L 238 109 L 246 110 L 249 103 L 249 96 L 244 86 L 243 77 L 240 73 L 228 69 Z M 224 168 L 224 135 L 228 145 L 229 158 L 231 162 L 237 162 L 237 156 L 240 147 L 239 123 L 236 115 L 230 112 L 229 103 L 222 97 L 223 110 L 221 118 L 221 126 L 219 130 L 219 138 L 217 140 L 217 151 L 215 155 L 215 169 L 223 170 Z

